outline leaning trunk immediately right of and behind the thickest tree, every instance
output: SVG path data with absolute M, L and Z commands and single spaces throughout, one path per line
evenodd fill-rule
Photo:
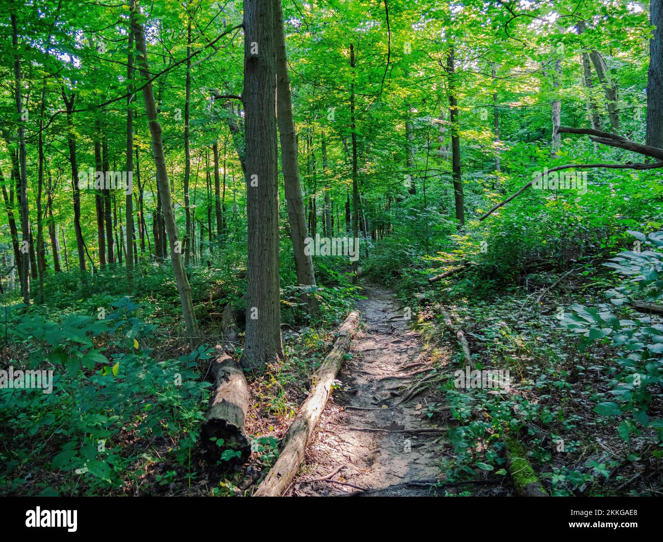
M 286 40 L 283 27 L 283 11 L 281 0 L 274 0 L 274 40 L 276 42 L 276 109 L 278 111 L 278 134 L 281 140 L 281 168 L 288 205 L 288 223 L 290 224 L 290 240 L 294 252 L 294 266 L 297 282 L 302 286 L 315 286 L 316 276 L 313 270 L 311 254 L 304 251 L 304 242 L 308 237 L 306 229 L 304 197 L 299 178 L 297 162 L 297 142 L 292 117 L 292 96 L 290 94 L 290 77 L 288 76 L 288 60 L 286 58 Z M 329 195 L 326 193 L 326 197 Z M 314 296 L 305 296 L 311 309 L 316 310 L 318 303 Z

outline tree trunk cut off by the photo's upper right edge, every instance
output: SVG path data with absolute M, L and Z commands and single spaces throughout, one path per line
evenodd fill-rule
M 655 28 L 649 40 L 646 144 L 663 148 L 663 0 L 650 0 L 649 9 L 650 23 Z

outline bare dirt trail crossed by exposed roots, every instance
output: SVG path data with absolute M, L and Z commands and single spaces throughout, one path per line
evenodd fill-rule
M 393 408 L 400 399 L 392 392 L 410 386 L 426 374 L 408 379 L 387 379 L 431 368 L 422 353 L 420 337 L 410 331 L 404 310 L 392 295 L 365 287 L 367 299 L 359 311 L 367 329 L 355 337 L 339 375 L 342 388 L 334 392 L 308 447 L 292 495 L 326 496 L 356 492 L 351 486 L 310 481 L 341 468 L 332 480 L 360 488 L 383 489 L 379 496 L 429 494 L 429 486 L 404 482 L 436 478 L 440 474 L 442 433 L 396 433 L 357 430 L 379 428 L 398 431 L 434 427 L 426 416 L 427 391 Z M 412 368 L 406 366 L 424 362 Z M 401 388 L 402 389 L 402 388 Z M 391 487 L 400 484 L 397 487 Z

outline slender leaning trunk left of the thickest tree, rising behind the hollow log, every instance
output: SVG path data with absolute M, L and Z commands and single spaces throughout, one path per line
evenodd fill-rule
M 138 13 L 138 3 L 133 2 L 132 9 Z M 149 62 L 147 60 L 147 46 L 145 45 L 145 34 L 143 33 L 143 25 L 136 21 L 136 17 L 132 21 L 133 33 L 136 40 L 136 48 L 139 53 L 138 64 L 141 75 L 145 80 L 149 80 L 151 74 Z M 166 160 L 164 158 L 164 147 L 161 139 L 161 125 L 159 124 L 156 103 L 154 102 L 154 91 L 152 91 L 152 84 L 147 83 L 143 87 L 143 99 L 145 100 L 145 112 L 147 119 L 150 123 L 150 133 L 152 135 L 152 151 L 154 152 L 154 166 L 157 171 L 157 184 L 158 191 L 161 195 L 163 202 L 164 221 L 166 222 L 166 230 L 168 231 L 168 240 L 170 241 L 170 259 L 172 261 L 172 268 L 177 282 L 178 292 L 180 294 L 180 302 L 182 303 L 182 316 L 184 317 L 184 325 L 189 335 L 198 335 L 198 325 L 196 324 L 196 313 L 194 311 L 194 303 L 191 298 L 191 286 L 184 270 L 184 263 L 180 252 L 176 250 L 179 244 L 177 235 L 177 226 L 175 223 L 175 215 L 170 200 L 170 186 L 168 186 L 168 172 L 166 170 Z

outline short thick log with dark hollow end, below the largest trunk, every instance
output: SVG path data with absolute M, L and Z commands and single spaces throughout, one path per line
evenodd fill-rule
M 239 364 L 216 347 L 217 356 L 211 363 L 211 372 L 216 382 L 207 419 L 201 429 L 202 445 L 212 455 L 220 455 L 225 449 L 241 453 L 233 460 L 241 464 L 251 455 L 251 445 L 245 429 L 246 413 L 249 409 L 249 386 Z M 223 445 L 217 444 L 223 439 Z

